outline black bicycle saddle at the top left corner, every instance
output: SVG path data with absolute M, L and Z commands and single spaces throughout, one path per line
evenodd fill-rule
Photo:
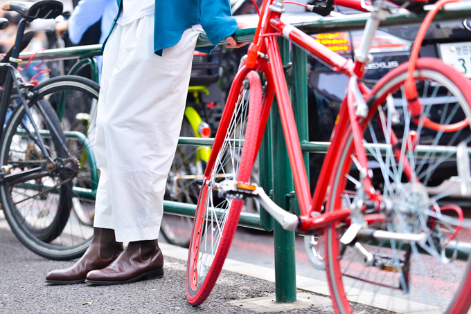
M 8 2 L 2 7 L 6 11 L 18 12 L 25 19 L 55 19 L 62 14 L 62 2 L 56 0 L 39 0 L 34 3 Z

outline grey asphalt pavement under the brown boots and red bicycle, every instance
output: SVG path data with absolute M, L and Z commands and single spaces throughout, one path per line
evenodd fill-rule
M 0 313 L 333 313 L 328 297 L 303 290 L 296 304 L 276 304 L 274 282 L 229 270 L 222 271 L 204 304 L 191 306 L 186 300 L 186 261 L 166 253 L 184 255 L 185 250 L 168 244 L 162 245 L 162 279 L 117 286 L 49 286 L 44 284 L 46 273 L 73 261 L 49 261 L 30 252 L 3 219 L 0 239 Z M 247 266 L 230 260 L 224 264 L 253 272 Z M 387 312 L 357 304 L 355 313 Z

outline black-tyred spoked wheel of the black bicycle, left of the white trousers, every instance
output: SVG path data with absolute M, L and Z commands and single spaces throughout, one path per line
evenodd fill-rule
M 94 190 L 98 173 L 94 160 L 94 114 L 91 108 L 98 100 L 98 84 L 83 77 L 55 77 L 32 90 L 28 103 L 33 117 L 54 158 L 69 160 L 76 174 L 65 182 L 61 175 L 44 176 L 1 187 L 3 210 L 10 227 L 24 245 L 47 259 L 75 259 L 87 250 L 93 235 Z M 75 108 L 75 127 L 71 120 L 58 120 L 55 109 Z M 42 116 L 39 106 L 44 107 Z M 87 111 L 85 115 L 80 115 Z M 71 115 L 64 112 L 64 116 Z M 82 126 L 77 127 L 82 123 Z M 60 130 L 68 149 L 57 143 L 51 131 Z M 62 132 L 61 124 L 68 129 Z M 40 165 L 44 156 L 30 130 L 24 108 L 18 106 L 11 114 L 0 151 L 2 165 L 10 173 Z M 29 131 L 28 131 L 29 130 Z M 65 135 L 64 135 L 65 133 Z

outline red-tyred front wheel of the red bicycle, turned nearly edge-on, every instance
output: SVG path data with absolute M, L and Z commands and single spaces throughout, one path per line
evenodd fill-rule
M 236 179 L 249 182 L 256 156 L 262 89 L 256 72 L 250 72 L 247 79 L 236 103 L 226 104 L 226 110 L 233 112 L 224 112 L 221 125 L 225 127 L 218 129 L 215 138 L 215 141 L 223 138 L 224 142 L 220 149 L 213 147 L 208 163 L 212 167 L 206 169 L 199 192 L 186 272 L 186 295 L 194 305 L 204 302 L 217 281 L 244 203 L 219 198 L 216 187 Z

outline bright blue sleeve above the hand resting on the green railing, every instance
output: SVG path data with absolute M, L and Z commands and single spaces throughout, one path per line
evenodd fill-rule
M 222 39 L 236 33 L 238 24 L 231 15 L 229 0 L 201 0 L 201 25 L 211 44 L 217 45 Z

